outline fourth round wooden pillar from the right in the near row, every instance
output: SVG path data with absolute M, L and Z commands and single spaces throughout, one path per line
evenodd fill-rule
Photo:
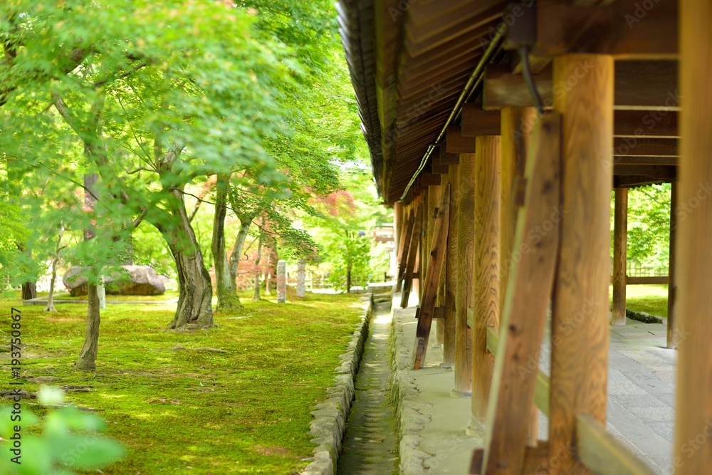
M 499 328 L 500 137 L 476 137 L 475 150 L 473 427 L 484 423 L 494 370 L 494 356 L 487 351 L 487 327 Z

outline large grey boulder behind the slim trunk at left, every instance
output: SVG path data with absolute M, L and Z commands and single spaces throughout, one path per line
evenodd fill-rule
M 125 296 L 159 296 L 165 293 L 163 280 L 150 266 L 122 266 L 126 272 L 104 276 L 106 293 Z M 62 282 L 72 296 L 87 294 L 88 279 L 80 275 L 81 267 L 70 268 Z

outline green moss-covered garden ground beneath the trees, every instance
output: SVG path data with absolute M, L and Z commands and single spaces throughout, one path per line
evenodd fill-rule
M 89 373 L 73 370 L 85 304 L 45 313 L 4 298 L 0 335 L 9 339 L 10 307 L 20 308 L 23 374 L 90 390 L 68 398 L 103 417 L 108 435 L 127 448 L 105 474 L 290 474 L 308 464 L 310 408 L 332 383 L 360 298 L 308 294 L 278 305 L 245 295 L 244 311 L 217 313 L 216 328 L 196 333 L 166 331 L 174 305 L 110 305 Z M 204 347 L 226 353 L 197 350 Z M 0 361 L 0 384 L 9 387 L 9 353 Z

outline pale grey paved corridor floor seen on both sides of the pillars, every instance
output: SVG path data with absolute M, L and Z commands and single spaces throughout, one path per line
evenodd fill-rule
M 394 302 L 399 303 L 399 296 Z M 431 338 L 422 370 L 411 368 L 415 308 L 394 304 L 394 391 L 400 416 L 402 474 L 466 474 L 481 434 L 468 435 L 471 401 L 453 397 L 453 372 L 439 367 L 440 348 Z M 435 325 L 433 325 L 433 328 Z M 435 331 L 433 329 L 433 331 Z M 611 328 L 608 382 L 609 432 L 658 474 L 672 473 L 676 350 L 662 348 L 666 328 L 659 323 L 628 320 Z M 540 366 L 548 372 L 546 338 Z M 548 424 L 540 413 L 540 439 Z

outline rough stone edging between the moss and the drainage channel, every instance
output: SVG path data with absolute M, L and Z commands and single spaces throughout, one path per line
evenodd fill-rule
M 372 315 L 371 295 L 365 294 L 363 314 L 347 346 L 346 353 L 339 355 L 341 364 L 335 369 L 334 385 L 326 390 L 327 400 L 314 407 L 310 422 L 311 440 L 317 447 L 312 461 L 302 475 L 333 475 L 341 452 L 341 441 L 346 428 L 346 418 L 354 398 L 354 380 L 363 348 L 368 336 L 368 325 Z

